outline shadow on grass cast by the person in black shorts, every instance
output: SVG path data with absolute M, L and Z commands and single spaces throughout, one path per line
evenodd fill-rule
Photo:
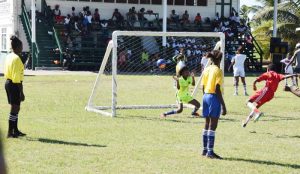
M 28 141 L 38 141 L 38 142 L 41 142 L 41 143 L 48 143 L 48 144 L 62 144 L 62 145 L 68 145 L 68 146 L 107 147 L 106 145 L 77 143 L 77 142 L 54 140 L 54 139 L 48 139 L 48 138 L 30 138 L 30 137 L 27 137 L 26 140 L 28 140 Z

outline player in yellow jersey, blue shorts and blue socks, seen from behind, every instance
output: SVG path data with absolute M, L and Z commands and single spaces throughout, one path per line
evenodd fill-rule
M 203 86 L 203 117 L 206 119 L 203 129 L 203 156 L 209 158 L 222 159 L 214 153 L 215 131 L 218 126 L 218 120 L 221 115 L 226 115 L 226 106 L 222 96 L 221 87 L 223 85 L 223 73 L 220 69 L 222 53 L 214 50 L 208 54 L 212 65 L 205 68 L 201 84 Z

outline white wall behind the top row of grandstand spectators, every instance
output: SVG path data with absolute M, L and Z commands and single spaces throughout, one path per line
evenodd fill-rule
M 238 1 L 233 0 L 233 7 L 238 9 Z M 56 5 L 60 5 L 60 9 L 63 15 L 71 14 L 71 8 L 76 8 L 76 13 L 82 11 L 82 7 L 89 6 L 93 11 L 98 8 L 102 19 L 111 18 L 112 12 L 115 8 L 125 15 L 128 9 L 135 7 L 137 10 L 144 7 L 146 10 L 150 9 L 156 13 L 160 14 L 162 18 L 163 8 L 162 5 L 147 5 L 147 4 L 126 4 L 126 3 L 104 3 L 104 2 L 76 2 L 76 1 L 65 1 L 65 0 L 47 0 L 47 4 L 52 8 Z M 168 5 L 168 15 L 171 14 L 171 10 L 175 9 L 177 13 L 181 16 L 185 10 L 189 11 L 190 20 L 193 20 L 197 13 L 200 13 L 203 18 L 210 17 L 213 18 L 216 14 L 216 0 L 208 0 L 208 6 L 178 6 L 178 5 Z M 229 12 L 227 13 L 229 15 Z M 226 15 L 226 14 L 225 14 Z

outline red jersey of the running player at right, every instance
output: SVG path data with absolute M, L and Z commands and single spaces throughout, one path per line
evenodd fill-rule
M 285 76 L 282 74 L 278 74 L 275 71 L 268 71 L 260 75 L 257 78 L 257 81 L 258 82 L 261 82 L 263 80 L 266 81 L 265 88 L 268 88 L 269 92 L 275 93 L 280 81 L 283 80 L 284 78 Z

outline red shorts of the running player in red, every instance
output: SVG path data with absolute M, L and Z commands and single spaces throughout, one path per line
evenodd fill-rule
M 257 103 L 257 108 L 261 107 L 261 105 L 267 103 L 268 101 L 272 100 L 274 97 L 274 92 L 268 90 L 268 88 L 263 88 L 257 91 L 254 95 L 252 95 L 249 99 L 251 103 Z

